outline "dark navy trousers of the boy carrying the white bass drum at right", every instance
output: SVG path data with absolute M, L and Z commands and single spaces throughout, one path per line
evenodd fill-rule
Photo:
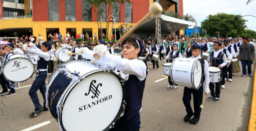
M 187 113 L 193 113 L 193 110 L 191 108 L 191 94 L 193 95 L 193 102 L 194 102 L 194 117 L 199 118 L 201 113 L 200 105 L 202 104 L 203 100 L 203 86 L 201 85 L 198 90 L 195 89 L 189 89 L 187 87 L 184 88 L 183 98 L 182 101 L 186 107 Z

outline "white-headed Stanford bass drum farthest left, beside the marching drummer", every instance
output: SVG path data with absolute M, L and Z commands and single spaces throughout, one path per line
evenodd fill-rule
M 3 65 L 2 72 L 8 81 L 23 82 L 32 77 L 34 64 L 25 54 L 14 54 Z

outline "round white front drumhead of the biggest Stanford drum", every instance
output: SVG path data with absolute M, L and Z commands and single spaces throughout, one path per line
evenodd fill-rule
M 83 68 L 80 68 L 83 69 Z M 98 98 L 94 97 L 98 87 Z M 102 85 L 100 85 L 102 84 Z M 93 87 L 93 91 L 90 91 Z M 92 90 L 92 89 L 91 89 Z M 99 93 L 100 92 L 100 93 Z M 89 93 L 89 95 L 85 95 Z M 118 78 L 107 72 L 98 72 L 80 81 L 65 94 L 65 103 L 61 116 L 63 127 L 70 131 L 101 131 L 112 124 L 122 104 L 123 91 Z

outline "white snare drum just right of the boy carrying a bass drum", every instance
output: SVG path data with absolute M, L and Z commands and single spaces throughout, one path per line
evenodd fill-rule
M 220 69 L 217 67 L 209 67 L 209 78 L 211 83 L 218 83 L 220 79 Z

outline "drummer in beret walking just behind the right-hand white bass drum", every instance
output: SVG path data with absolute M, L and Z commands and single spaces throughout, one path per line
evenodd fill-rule
M 164 56 L 164 59 L 169 60 L 169 59 L 171 58 L 171 59 L 169 60 L 169 62 L 172 63 L 172 62 L 173 62 L 173 59 L 175 59 L 175 58 L 177 58 L 177 57 L 182 58 L 182 55 L 181 55 L 181 53 L 178 51 L 178 48 L 179 48 L 179 47 L 178 47 L 178 44 L 174 43 L 174 44 L 173 44 L 173 51 L 170 51 L 169 54 L 167 54 L 166 56 Z M 173 86 L 173 82 L 171 81 L 171 77 L 170 77 L 170 76 L 168 77 L 168 81 L 169 81 L 169 85 L 167 86 L 167 89 L 171 89 L 172 86 Z M 178 85 L 175 85 L 173 89 L 174 89 L 174 90 L 177 90 L 177 89 L 178 89 Z

